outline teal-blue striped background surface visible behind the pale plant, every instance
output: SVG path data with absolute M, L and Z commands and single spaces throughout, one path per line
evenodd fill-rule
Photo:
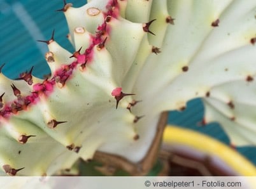
M 73 6 L 84 4 L 84 0 L 69 0 Z M 29 70 L 34 65 L 33 74 L 38 77 L 50 72 L 45 62 L 46 44 L 36 40 L 46 40 L 55 29 L 55 41 L 69 51 L 73 51 L 71 44 L 66 39 L 68 27 L 64 15 L 59 10 L 62 8 L 61 0 L 0 0 L 0 65 L 6 63 L 3 73 L 11 78 L 18 77 L 20 72 Z M 206 133 L 224 143 L 229 143 L 229 138 L 217 123 L 200 127 L 203 119 L 203 104 L 200 99 L 192 100 L 183 112 L 170 112 L 169 123 L 188 127 L 201 133 Z M 1 139 L 0 139 L 1 142 Z M 256 164 L 256 148 L 238 148 L 249 160 Z

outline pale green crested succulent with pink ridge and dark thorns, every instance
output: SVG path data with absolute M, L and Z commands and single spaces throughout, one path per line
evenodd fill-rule
M 203 98 L 234 145 L 255 145 L 255 1 L 64 1 L 70 53 L 52 37 L 52 74 L 0 74 L 3 174 L 52 175 L 96 151 L 143 159 L 161 112 Z M 3 67 L 3 66 L 2 66 Z M 1 67 L 1 68 L 2 68 Z

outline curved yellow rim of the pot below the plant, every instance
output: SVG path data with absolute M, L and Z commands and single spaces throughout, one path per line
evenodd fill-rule
M 256 176 L 256 167 L 236 150 L 210 136 L 176 126 L 167 126 L 163 135 L 167 145 L 183 145 L 223 160 L 241 176 Z

